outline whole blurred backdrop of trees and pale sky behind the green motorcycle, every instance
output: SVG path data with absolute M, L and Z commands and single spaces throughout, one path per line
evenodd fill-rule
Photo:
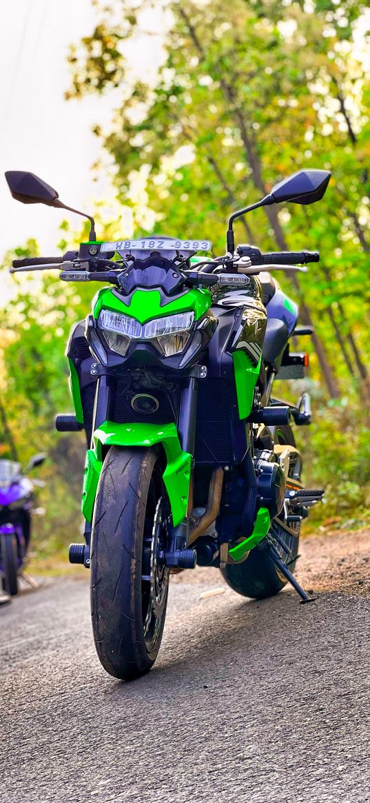
M 311 529 L 356 528 L 370 511 L 369 39 L 370 9 L 356 0 L 13 0 L 2 10 L 1 172 L 43 177 L 95 214 L 98 238 L 157 230 L 223 253 L 230 210 L 303 166 L 331 170 L 319 204 L 266 207 L 236 230 L 266 251 L 321 253 L 294 283 L 279 275 L 315 326 L 309 378 L 276 385 L 294 400 L 311 392 L 314 424 L 298 430 L 299 446 L 307 483 L 327 487 Z M 0 199 L 0 458 L 49 453 L 32 555 L 39 572 L 58 572 L 78 540 L 84 449 L 54 418 L 71 411 L 64 352 L 95 291 L 7 269 L 14 255 L 75 247 L 88 230 L 73 214 L 17 204 L 3 177 Z

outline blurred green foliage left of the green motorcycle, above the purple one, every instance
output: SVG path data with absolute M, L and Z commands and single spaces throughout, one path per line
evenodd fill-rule
M 18 256 L 37 253 L 34 241 L 16 250 Z M 10 259 L 6 255 L 5 264 Z M 0 311 L 0 454 L 25 465 L 31 454 L 47 451 L 47 463 L 33 472 L 46 481 L 38 491 L 46 516 L 35 517 L 33 549 L 49 556 L 63 548 L 66 557 L 68 541 L 78 538 L 84 443 L 82 435 L 58 434 L 54 419 L 72 409 L 66 343 L 72 324 L 86 316 L 93 290 L 76 291 L 51 271 L 36 277 L 14 277 L 17 291 Z

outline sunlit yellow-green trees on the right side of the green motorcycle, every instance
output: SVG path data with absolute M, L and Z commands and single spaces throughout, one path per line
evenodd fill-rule
M 101 51 L 95 58 L 95 35 L 84 39 L 74 50 L 72 94 L 120 88 L 111 130 L 96 133 L 114 161 L 119 198 L 129 198 L 136 177 L 147 176 L 157 231 L 201 234 L 220 253 L 230 210 L 256 201 L 303 165 L 331 170 L 322 202 L 255 212 L 237 223 L 236 234 L 265 250 L 321 252 L 321 263 L 299 277 L 299 286 L 281 279 L 303 306 L 303 318 L 311 314 L 326 349 L 318 361 L 311 343 L 296 344 L 311 353 L 315 410 L 310 434 L 300 432 L 299 440 L 308 481 L 328 485 L 326 509 L 336 505 L 347 515 L 364 507 L 370 483 L 366 6 L 356 0 L 165 3 L 165 59 L 154 86 L 143 79 L 130 85 L 122 55 L 124 43 L 138 41 L 152 2 L 122 0 L 122 24 L 117 17 L 112 24 L 111 6 L 96 6 L 100 38 L 109 32 L 121 55 L 108 71 Z M 340 393 L 333 393 L 327 374 Z M 323 377 L 338 399 L 328 399 Z

